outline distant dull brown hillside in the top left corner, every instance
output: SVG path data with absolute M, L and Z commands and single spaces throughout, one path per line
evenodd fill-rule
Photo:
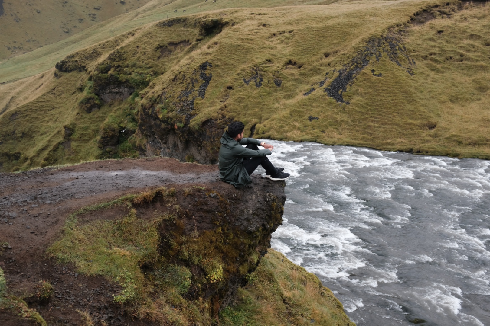
M 56 43 L 150 0 L 1 0 L 0 61 Z

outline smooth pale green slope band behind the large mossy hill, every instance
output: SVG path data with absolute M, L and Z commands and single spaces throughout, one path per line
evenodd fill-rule
M 61 0 L 58 1 L 61 2 Z M 32 52 L 1 61 L 0 83 L 41 73 L 53 67 L 58 61 L 72 52 L 164 19 L 172 19 L 202 12 L 212 12 L 225 8 L 271 8 L 275 6 L 326 4 L 332 2 L 336 2 L 336 0 L 221 0 L 217 2 L 204 2 L 204 0 L 150 0 L 147 1 L 145 6 L 129 11 L 126 14 L 107 19 L 104 22 L 100 22 L 101 20 L 99 20 L 99 23 L 96 25 L 76 34 L 69 33 L 69 37 L 61 42 L 37 48 Z M 186 11 L 184 12 L 184 10 Z M 96 10 L 93 11 L 95 12 Z M 55 15 L 58 15 L 58 13 Z M 63 13 L 59 13 L 59 15 L 63 17 Z M 36 26 L 36 28 L 39 27 Z M 20 29 L 17 33 L 19 32 L 24 35 L 25 33 L 32 32 L 32 30 Z M 17 33 L 14 34 L 17 35 Z

